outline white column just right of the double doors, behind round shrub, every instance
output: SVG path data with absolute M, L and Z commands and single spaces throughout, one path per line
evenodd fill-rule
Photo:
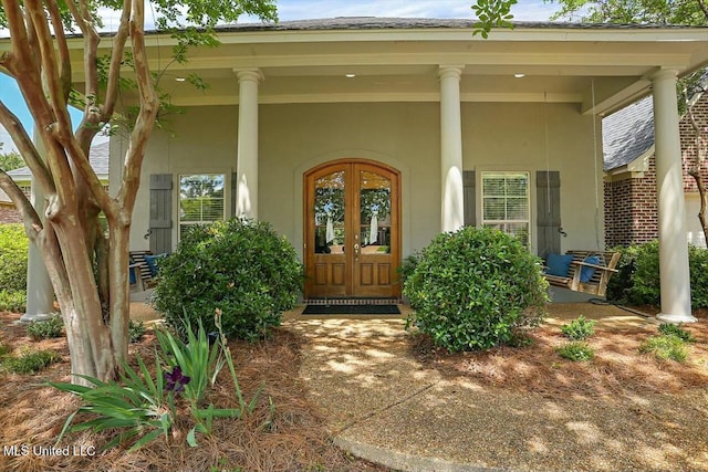
M 440 77 L 440 176 L 442 207 L 440 229 L 457 231 L 465 224 L 462 188 L 462 120 L 460 76 L 464 65 L 441 65 Z

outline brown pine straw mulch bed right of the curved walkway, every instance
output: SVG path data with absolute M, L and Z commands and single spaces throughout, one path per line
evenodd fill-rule
M 656 308 L 641 307 L 656 314 Z M 499 347 L 477 353 L 450 354 L 437 348 L 427 336 L 412 343 L 415 357 L 444 376 L 465 377 L 479 385 L 507 390 L 530 391 L 548 398 L 591 399 L 632 397 L 637 394 L 680 394 L 705 389 L 708 385 L 708 310 L 694 315 L 696 324 L 684 328 L 696 338 L 684 364 L 658 361 L 650 354 L 639 354 L 642 340 L 656 335 L 653 325 L 645 327 L 595 328 L 587 343 L 595 350 L 591 363 L 563 359 L 555 348 L 568 342 L 561 331 L 541 326 L 530 337 L 533 347 Z

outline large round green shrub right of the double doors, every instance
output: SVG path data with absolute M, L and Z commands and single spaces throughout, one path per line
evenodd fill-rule
M 407 277 L 407 325 L 450 352 L 486 349 L 538 325 L 546 289 L 541 261 L 517 238 L 464 228 L 433 240 Z

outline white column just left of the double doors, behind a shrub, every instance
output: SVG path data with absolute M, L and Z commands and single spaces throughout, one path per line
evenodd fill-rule
M 236 214 L 258 218 L 258 70 L 235 71 L 239 81 Z

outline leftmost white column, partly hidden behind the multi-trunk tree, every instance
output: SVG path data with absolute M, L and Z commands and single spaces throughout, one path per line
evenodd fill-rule
M 34 133 L 34 143 L 40 155 L 44 155 L 44 147 L 39 134 Z M 39 182 L 32 177 L 31 179 L 31 203 L 37 214 L 44 221 L 44 192 L 40 188 Z M 52 281 L 46 273 L 46 266 L 40 254 L 40 250 L 30 242 L 28 251 L 27 266 L 27 310 L 20 318 L 22 322 L 37 322 L 49 319 L 54 311 L 54 289 Z

